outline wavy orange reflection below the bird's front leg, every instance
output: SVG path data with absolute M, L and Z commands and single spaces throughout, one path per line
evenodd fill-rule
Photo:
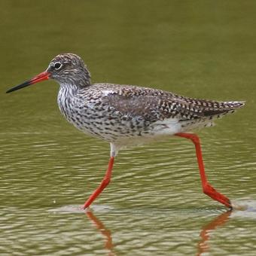
M 105 237 L 105 248 L 108 250 L 108 255 L 115 256 L 116 254 L 113 251 L 114 246 L 112 243 L 111 231 L 106 229 L 102 221 L 99 221 L 99 218 L 93 215 L 93 212 L 87 211 L 86 215 L 90 219 L 90 221 L 92 221 L 92 223 L 96 226 L 97 230 L 99 230 L 100 233 L 102 233 L 102 235 Z

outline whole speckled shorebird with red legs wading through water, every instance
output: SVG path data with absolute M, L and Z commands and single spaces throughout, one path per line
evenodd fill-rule
M 230 200 L 207 181 L 200 139 L 191 131 L 212 126 L 215 119 L 233 113 L 245 102 L 193 99 L 132 85 L 92 84 L 83 59 L 73 53 L 57 55 L 46 71 L 12 87 L 6 93 L 49 78 L 59 83 L 57 101 L 64 117 L 78 130 L 110 143 L 110 159 L 105 177 L 84 203 L 84 209 L 109 184 L 114 158 L 121 148 L 169 136 L 190 139 L 194 143 L 203 193 L 232 209 Z

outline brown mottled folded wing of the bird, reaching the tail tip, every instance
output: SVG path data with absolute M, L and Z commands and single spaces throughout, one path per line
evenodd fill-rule
M 193 120 L 209 116 L 221 116 L 244 102 L 215 102 L 178 96 L 163 90 L 142 87 L 120 87 L 107 96 L 108 104 L 130 117 L 143 117 L 155 122 L 166 118 Z

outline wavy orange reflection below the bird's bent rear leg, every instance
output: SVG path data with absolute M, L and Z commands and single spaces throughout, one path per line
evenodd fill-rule
M 224 212 L 217 218 L 214 218 L 211 222 L 209 222 L 209 224 L 206 224 L 202 227 L 202 230 L 200 232 L 201 240 L 200 242 L 198 242 L 198 256 L 209 250 L 209 245 L 207 241 L 210 239 L 211 231 L 215 230 L 217 227 L 221 227 L 226 224 L 229 220 L 230 215 L 231 210 L 228 212 Z

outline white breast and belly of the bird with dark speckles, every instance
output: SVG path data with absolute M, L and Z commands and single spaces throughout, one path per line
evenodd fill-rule
M 108 142 L 148 133 L 149 123 L 145 120 L 120 113 L 108 105 L 104 95 L 90 90 L 79 92 L 60 88 L 58 105 L 62 114 L 78 130 Z

